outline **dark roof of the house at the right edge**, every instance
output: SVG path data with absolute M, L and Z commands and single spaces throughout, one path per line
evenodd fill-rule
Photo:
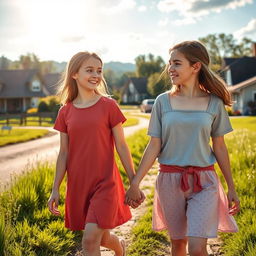
M 256 76 L 256 57 L 224 58 L 221 72 L 230 69 L 233 84 Z

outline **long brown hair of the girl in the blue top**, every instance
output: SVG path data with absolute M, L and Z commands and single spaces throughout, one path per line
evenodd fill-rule
M 209 68 L 210 57 L 205 46 L 201 42 L 184 41 L 173 46 L 169 50 L 169 53 L 173 50 L 178 50 L 182 53 L 190 62 L 190 65 L 193 65 L 196 62 L 201 63 L 201 69 L 198 75 L 199 87 L 201 90 L 217 95 L 223 100 L 225 105 L 232 105 L 231 95 L 226 88 L 225 82 Z M 169 64 L 167 64 L 164 72 L 167 72 L 168 67 Z M 179 91 L 180 86 L 173 85 L 171 93 L 175 94 Z

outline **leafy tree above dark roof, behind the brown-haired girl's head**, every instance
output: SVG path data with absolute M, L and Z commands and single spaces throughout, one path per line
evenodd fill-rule
M 243 57 L 252 54 L 251 45 L 253 41 L 248 38 L 243 38 L 240 43 L 236 41 L 232 34 L 209 34 L 206 37 L 199 38 L 207 48 L 213 69 L 221 67 L 224 57 Z

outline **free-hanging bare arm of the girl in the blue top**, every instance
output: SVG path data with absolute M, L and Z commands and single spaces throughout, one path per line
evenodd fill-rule
M 236 194 L 234 181 L 232 178 L 230 161 L 228 156 L 228 150 L 224 141 L 224 136 L 212 138 L 213 152 L 217 159 L 218 165 L 223 173 L 225 181 L 228 186 L 228 202 L 230 207 L 230 213 L 236 214 L 239 211 L 239 199 Z M 234 202 L 234 206 L 232 203 Z

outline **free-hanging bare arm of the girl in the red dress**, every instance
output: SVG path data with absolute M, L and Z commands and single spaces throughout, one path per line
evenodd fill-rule
M 55 214 L 59 215 L 60 212 L 57 209 L 59 205 L 59 187 L 66 173 L 66 165 L 68 158 L 68 135 L 66 133 L 60 133 L 60 150 L 56 163 L 56 172 L 54 177 L 54 182 L 52 186 L 52 193 L 48 200 L 49 210 Z

